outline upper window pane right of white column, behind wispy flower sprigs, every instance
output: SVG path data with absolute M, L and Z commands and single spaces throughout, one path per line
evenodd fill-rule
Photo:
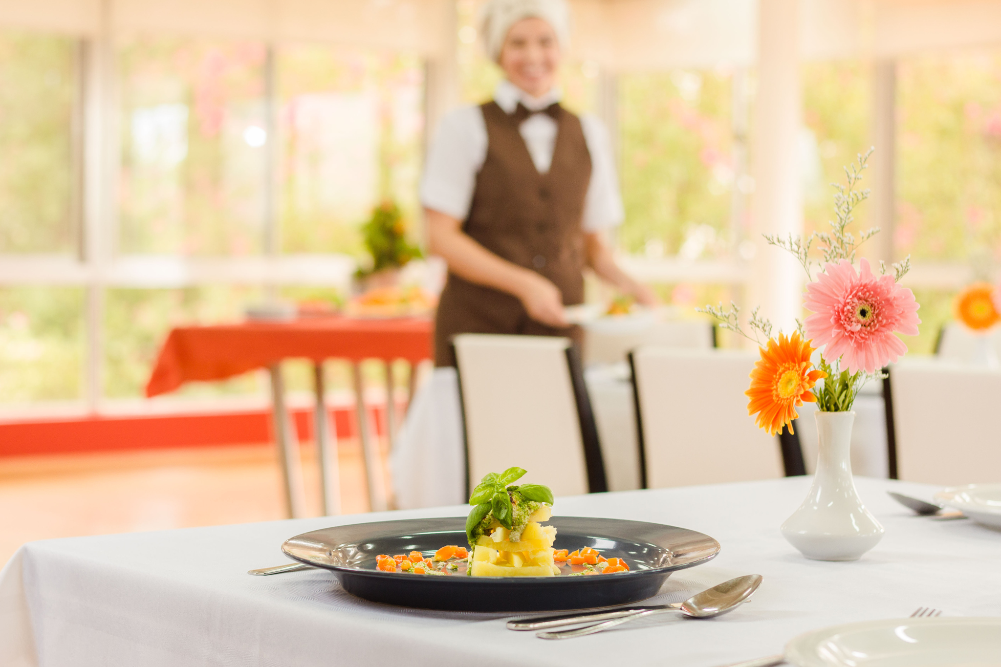
M 872 145 L 870 117 L 872 67 L 865 63 L 809 63 L 803 67 L 803 152 L 804 231 L 826 232 L 834 219 L 834 193 L 831 183 L 844 183 L 844 167 Z M 885 146 L 877 146 L 870 165 L 893 159 Z M 869 169 L 863 188 L 873 187 Z M 869 229 L 871 207 L 855 209 L 855 232 Z M 863 246 L 862 255 L 870 250 Z M 871 256 L 871 255 L 870 255 Z

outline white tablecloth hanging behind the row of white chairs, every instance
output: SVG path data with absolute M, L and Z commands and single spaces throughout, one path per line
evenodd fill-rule
M 633 384 L 626 364 L 594 366 L 585 373 L 610 491 L 640 488 Z M 887 477 L 886 418 L 879 383 L 870 383 L 855 401 L 852 469 L 857 475 Z M 797 433 L 807 472 L 817 460 L 815 406 L 800 408 Z M 750 417 L 749 417 L 750 419 Z M 454 368 L 435 368 L 420 387 L 396 436 L 390 470 L 399 509 L 439 507 L 465 501 L 462 414 Z

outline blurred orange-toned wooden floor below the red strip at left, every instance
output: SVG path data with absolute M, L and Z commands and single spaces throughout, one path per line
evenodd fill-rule
M 338 449 L 342 513 L 367 511 L 361 450 Z M 307 510 L 319 516 L 312 452 L 302 447 Z M 282 518 L 270 444 L 0 458 L 0 565 L 32 540 Z

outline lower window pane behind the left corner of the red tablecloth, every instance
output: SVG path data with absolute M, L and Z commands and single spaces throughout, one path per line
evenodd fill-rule
M 261 291 L 255 287 L 109 289 L 104 320 L 105 396 L 143 395 L 156 355 L 172 327 L 238 321 L 244 307 L 260 298 Z M 247 374 L 225 382 L 190 383 L 175 395 L 253 394 L 265 389 L 256 374 Z

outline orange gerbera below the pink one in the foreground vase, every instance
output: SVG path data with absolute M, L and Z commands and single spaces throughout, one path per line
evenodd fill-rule
M 761 359 L 755 362 L 751 388 L 744 393 L 751 399 L 748 414 L 757 412 L 758 427 L 766 429 L 769 435 L 775 435 L 787 424 L 792 432 L 793 420 L 799 417 L 796 407 L 803 405 L 803 401 L 817 401 L 810 390 L 827 373 L 810 370 L 813 366 L 810 355 L 814 351 L 811 342 L 801 339 L 796 331 L 789 338 L 780 333 L 778 342 L 770 338 L 768 349 L 758 348 Z

